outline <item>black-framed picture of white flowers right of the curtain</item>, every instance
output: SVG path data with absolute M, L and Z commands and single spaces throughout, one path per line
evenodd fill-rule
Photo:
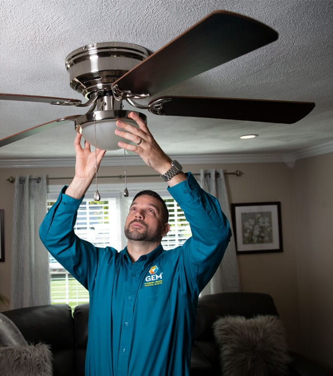
M 237 253 L 282 252 L 280 202 L 231 204 Z

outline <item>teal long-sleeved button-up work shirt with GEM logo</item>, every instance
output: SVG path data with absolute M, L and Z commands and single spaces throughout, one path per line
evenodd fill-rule
M 187 376 L 200 291 L 212 278 L 231 232 L 216 198 L 190 173 L 168 188 L 192 237 L 158 246 L 132 263 L 127 249 L 98 248 L 73 226 L 82 201 L 64 194 L 39 234 L 50 253 L 90 293 L 86 376 Z

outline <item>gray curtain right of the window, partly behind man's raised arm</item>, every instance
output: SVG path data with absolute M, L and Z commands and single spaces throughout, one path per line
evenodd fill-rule
M 223 170 L 201 170 L 200 186 L 218 199 L 224 214 L 231 223 L 228 193 L 225 186 Z M 235 291 L 240 291 L 240 277 L 235 241 L 234 238 L 231 237 L 230 243 L 216 273 L 203 289 L 201 295 Z

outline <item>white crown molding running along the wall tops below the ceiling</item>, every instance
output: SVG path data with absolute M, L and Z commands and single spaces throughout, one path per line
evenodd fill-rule
M 333 141 L 287 154 L 199 154 L 173 155 L 182 164 L 220 164 L 220 163 L 286 163 L 292 165 L 298 159 L 315 157 L 333 152 Z M 103 166 L 122 166 L 123 157 L 104 157 Z M 144 165 L 139 156 L 126 157 L 126 164 Z M 52 168 L 74 167 L 75 157 L 54 159 L 0 159 L 0 168 Z

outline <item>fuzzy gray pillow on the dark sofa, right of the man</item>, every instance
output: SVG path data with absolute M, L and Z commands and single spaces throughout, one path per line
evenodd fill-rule
M 290 357 L 284 327 L 278 317 L 221 317 L 215 321 L 213 331 L 220 345 L 222 375 L 288 374 Z

